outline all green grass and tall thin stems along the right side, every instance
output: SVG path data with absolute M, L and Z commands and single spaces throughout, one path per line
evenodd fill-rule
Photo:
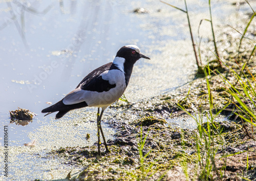
M 250 6 L 249 2 L 247 0 L 245 0 L 245 1 Z M 160 2 L 162 2 L 162 1 L 160 1 Z M 247 38 L 245 35 L 248 32 L 248 29 L 249 29 L 252 21 L 255 19 L 254 16 L 256 15 L 256 13 L 250 6 L 253 14 L 251 15 L 247 25 L 245 26 L 243 33 L 240 33 L 238 30 L 234 29 L 242 35 L 240 42 L 239 42 L 239 46 L 238 46 L 238 57 L 239 58 L 240 58 L 240 54 L 241 54 L 240 50 L 241 50 L 242 43 L 243 43 L 244 39 L 247 39 L 253 45 L 253 49 L 250 52 L 249 58 L 247 60 L 245 60 L 245 59 L 239 60 L 239 62 L 244 62 L 243 65 L 240 67 L 240 70 L 232 69 L 231 67 L 227 66 L 224 63 L 224 61 L 222 61 L 220 58 L 220 55 L 218 52 L 218 47 L 217 47 L 217 42 L 216 42 L 216 36 L 215 36 L 215 32 L 214 32 L 214 26 L 213 26 L 213 22 L 212 22 L 210 0 L 208 0 L 210 18 L 202 19 L 199 24 L 198 35 L 199 35 L 199 29 L 202 24 L 202 21 L 206 20 L 206 21 L 210 22 L 211 33 L 212 33 L 212 38 L 213 38 L 214 48 L 215 48 L 215 51 L 212 51 L 212 53 L 215 52 L 214 54 L 218 60 L 219 67 L 221 67 L 222 69 L 223 69 L 223 66 L 225 67 L 225 69 L 226 69 L 225 74 L 227 74 L 227 72 L 228 72 L 229 74 L 231 74 L 229 77 L 233 77 L 237 80 L 236 81 L 237 83 L 234 83 L 233 81 L 229 81 L 229 79 L 226 77 L 226 75 L 222 74 L 223 73 L 222 71 L 210 70 L 209 65 L 206 65 L 204 67 L 204 69 L 202 69 L 202 63 L 200 63 L 200 62 L 202 62 L 201 52 L 200 52 L 200 43 L 201 43 L 202 37 L 200 37 L 200 35 L 199 35 L 199 47 L 198 47 L 198 53 L 197 53 L 196 48 L 195 48 L 193 33 L 191 31 L 186 0 L 184 0 L 185 10 L 178 8 L 176 6 L 170 5 L 165 2 L 162 2 L 162 3 L 186 13 L 188 26 L 189 26 L 189 30 L 190 30 L 190 36 L 191 36 L 191 40 L 193 43 L 193 48 L 194 48 L 194 53 L 195 53 L 195 57 L 197 60 L 198 69 L 203 70 L 203 72 L 205 74 L 206 84 L 207 84 L 208 103 L 209 103 L 208 110 L 206 110 L 204 112 L 200 112 L 199 108 L 198 108 L 197 113 L 194 112 L 193 114 L 191 114 L 190 112 L 188 112 L 186 110 L 186 108 L 179 105 L 180 108 L 183 109 L 186 112 L 186 114 L 188 114 L 191 118 L 193 118 L 197 123 L 197 129 L 196 129 L 197 133 L 195 134 L 197 163 L 195 165 L 195 170 L 194 170 L 195 176 L 194 176 L 193 180 L 196 180 L 196 179 L 223 180 L 224 177 L 226 176 L 227 157 L 233 156 L 234 154 L 241 154 L 244 151 L 234 153 L 234 154 L 228 154 L 228 155 L 225 154 L 226 143 L 225 143 L 225 139 L 224 139 L 223 133 L 222 133 L 223 128 L 221 126 L 219 126 L 218 123 L 215 122 L 215 119 L 221 113 L 221 111 L 224 110 L 229 105 L 229 103 L 226 106 L 224 106 L 221 110 L 217 111 L 217 108 L 215 110 L 215 107 L 213 106 L 214 99 L 212 98 L 212 93 L 211 93 L 212 90 L 211 90 L 210 77 L 211 77 L 211 75 L 214 75 L 214 76 L 217 75 L 217 76 L 219 76 L 220 80 L 222 80 L 222 84 L 226 88 L 226 93 L 228 93 L 227 95 L 229 95 L 230 102 L 235 107 L 234 114 L 236 114 L 238 116 L 238 118 L 240 118 L 241 124 L 243 126 L 244 131 L 247 134 L 247 137 L 249 139 L 255 140 L 254 129 L 256 126 L 256 105 L 255 105 L 256 104 L 256 101 L 255 101 L 256 100 L 256 91 L 255 91 L 256 90 L 256 79 L 254 78 L 254 76 L 252 75 L 252 73 L 249 70 L 248 62 L 251 60 L 251 57 L 254 55 L 256 47 L 254 46 L 255 43 L 253 43 L 252 40 Z M 197 54 L 199 54 L 200 61 L 197 58 Z M 233 61 L 236 61 L 236 60 L 233 60 Z M 239 65 L 239 63 L 238 63 L 238 65 Z M 189 91 L 188 91 L 188 94 L 189 94 Z M 217 113 L 214 114 L 213 112 L 217 112 Z M 205 117 L 206 117 L 206 122 L 204 123 L 203 118 L 205 118 Z M 250 127 L 250 129 L 248 129 L 248 127 Z M 221 157 L 218 155 L 218 157 L 220 157 L 218 159 L 221 159 L 223 162 L 221 167 L 220 166 L 217 167 L 216 155 L 217 155 L 217 151 L 219 151 L 219 150 L 222 150 L 222 152 L 223 152 Z M 188 170 L 187 163 L 182 162 L 180 164 L 183 168 L 183 172 L 186 176 L 186 179 L 189 180 L 189 175 L 191 175 L 191 173 L 189 174 L 187 171 Z M 248 168 L 249 168 L 249 161 L 248 161 L 248 154 L 247 154 L 247 165 L 246 165 L 246 170 L 245 170 L 246 173 L 243 173 L 242 175 L 238 175 L 241 179 L 249 180 L 247 178 L 248 177 L 248 175 L 247 175 Z M 191 177 L 190 177 L 190 179 L 191 179 Z

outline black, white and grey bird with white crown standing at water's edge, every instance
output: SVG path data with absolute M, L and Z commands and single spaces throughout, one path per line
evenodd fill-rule
M 47 113 L 45 116 L 57 112 L 55 119 L 59 119 L 73 109 L 97 107 L 97 156 L 100 156 L 100 132 L 105 151 L 110 152 L 101 128 L 101 118 L 104 110 L 123 95 L 129 84 L 133 66 L 140 58 L 150 59 L 141 54 L 140 49 L 134 44 L 121 47 L 112 62 L 106 63 L 89 73 L 63 99 L 50 107 L 42 109 L 41 112 Z

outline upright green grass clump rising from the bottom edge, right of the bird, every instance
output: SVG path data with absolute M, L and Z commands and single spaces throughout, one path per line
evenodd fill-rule
M 213 102 L 211 96 L 211 88 L 210 88 L 210 70 L 204 69 L 206 83 L 207 83 L 207 90 L 208 90 L 208 101 L 210 108 L 208 112 L 206 112 L 207 121 L 203 123 L 203 114 L 198 111 L 197 116 L 193 116 L 190 114 L 184 107 L 180 106 L 191 118 L 193 118 L 197 123 L 197 134 L 195 135 L 196 147 L 197 147 L 197 164 L 195 166 L 195 174 L 199 177 L 200 180 L 208 180 L 214 179 L 217 177 L 218 180 L 222 180 L 223 178 L 223 170 L 225 164 L 221 169 L 218 169 L 216 166 L 216 154 L 217 150 L 220 148 L 224 149 L 224 138 L 221 134 L 222 130 L 220 126 L 217 126 L 215 123 L 215 118 L 220 114 L 221 110 L 217 112 L 217 114 L 212 113 Z M 227 105 L 226 105 L 227 106 Z M 215 135 L 213 133 L 215 130 Z M 216 138 L 218 137 L 220 143 L 216 143 Z M 199 171 L 197 170 L 199 168 Z M 186 175 L 186 169 L 184 169 L 184 173 Z

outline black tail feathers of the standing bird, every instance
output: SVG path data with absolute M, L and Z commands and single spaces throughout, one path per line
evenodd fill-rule
M 63 100 L 63 99 L 62 99 Z M 56 111 L 59 111 L 56 116 L 55 116 L 55 119 L 59 119 L 61 118 L 62 116 L 64 116 L 68 111 L 70 110 L 73 110 L 73 109 L 78 109 L 78 108 L 81 108 L 81 107 L 87 107 L 87 103 L 86 102 L 80 102 L 80 103 L 77 103 L 77 104 L 71 104 L 71 105 L 66 105 L 62 102 L 62 100 L 60 100 L 59 102 L 57 102 L 56 104 L 54 105 L 51 105 L 50 107 L 47 107 L 45 109 L 42 109 L 42 113 L 47 113 L 45 116 L 53 113 L 53 112 L 56 112 Z

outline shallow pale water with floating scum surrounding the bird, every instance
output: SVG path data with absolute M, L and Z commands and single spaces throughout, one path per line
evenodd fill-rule
M 180 1 L 170 3 L 184 6 Z M 249 11 L 231 3 L 212 2 L 216 24 L 228 23 L 232 13 Z M 138 7 L 149 13 L 132 13 Z M 191 1 L 188 7 L 197 32 L 200 19 L 208 17 L 207 3 Z M 207 37 L 208 30 L 205 24 L 201 34 Z M 40 111 L 49 106 L 46 102 L 62 99 L 90 71 L 112 61 L 125 44 L 137 44 L 151 57 L 136 63 L 125 92 L 129 101 L 169 92 L 193 79 L 196 65 L 186 16 L 158 1 L 0 2 L 0 119 L 9 128 L 9 179 L 67 176 L 73 167 L 67 169 L 60 159 L 41 155 L 59 147 L 94 144 L 96 109 L 72 111 L 57 121 L 54 115 L 44 118 Z M 9 110 L 17 107 L 37 116 L 26 126 L 10 124 Z M 114 130 L 103 126 L 107 139 L 112 139 Z M 90 133 L 90 141 L 84 139 L 86 133 Z M 35 147 L 23 146 L 34 139 Z

